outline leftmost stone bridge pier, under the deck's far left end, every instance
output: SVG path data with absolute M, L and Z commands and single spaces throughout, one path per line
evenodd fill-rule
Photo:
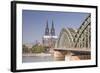
M 54 51 L 54 60 L 63 61 L 65 60 L 66 51 L 56 50 Z

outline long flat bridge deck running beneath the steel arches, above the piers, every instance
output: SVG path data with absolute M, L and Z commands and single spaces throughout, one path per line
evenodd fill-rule
M 54 48 L 54 50 L 59 51 L 77 51 L 77 52 L 90 52 L 90 48 Z

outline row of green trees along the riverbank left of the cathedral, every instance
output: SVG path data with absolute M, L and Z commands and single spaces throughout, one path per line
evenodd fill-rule
M 22 46 L 23 53 L 43 53 L 47 51 L 47 47 L 42 45 L 33 45 L 32 48 L 28 48 L 26 45 Z

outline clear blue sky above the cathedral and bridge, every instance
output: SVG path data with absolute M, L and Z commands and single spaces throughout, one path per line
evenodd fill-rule
M 53 21 L 55 34 L 59 36 L 62 28 L 79 28 L 88 15 L 89 13 L 23 10 L 23 43 L 34 43 L 36 40 L 41 42 L 47 21 L 49 29 Z

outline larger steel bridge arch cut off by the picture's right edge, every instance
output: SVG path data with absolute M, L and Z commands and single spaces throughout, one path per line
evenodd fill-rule
M 85 19 L 79 27 L 74 37 L 75 48 L 89 48 L 91 47 L 91 17 L 90 15 Z

